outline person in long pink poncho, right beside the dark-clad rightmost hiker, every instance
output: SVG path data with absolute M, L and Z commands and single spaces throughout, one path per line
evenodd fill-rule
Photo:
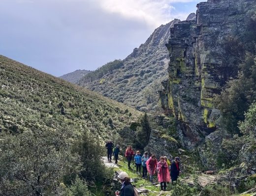
M 160 157 L 158 162 L 158 181 L 160 182 L 161 191 L 166 191 L 166 182 L 170 182 L 170 173 L 168 164 L 164 161 L 163 156 Z

